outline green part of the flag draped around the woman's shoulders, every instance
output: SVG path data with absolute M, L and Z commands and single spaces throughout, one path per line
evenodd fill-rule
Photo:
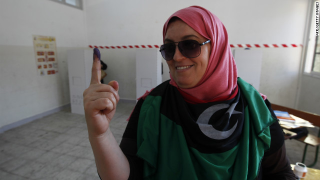
M 144 160 L 144 179 L 254 179 L 270 146 L 268 126 L 275 119 L 250 84 L 238 78 L 238 85 L 249 105 L 244 109 L 239 143 L 222 153 L 188 147 L 182 127 L 160 113 L 165 97 L 148 95 L 137 128 L 137 156 Z

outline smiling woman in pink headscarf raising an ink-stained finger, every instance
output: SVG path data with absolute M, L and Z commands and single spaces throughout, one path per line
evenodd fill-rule
M 137 102 L 117 146 L 108 122 L 118 84 L 83 92 L 89 140 L 102 179 L 295 179 L 270 103 L 237 70 L 220 20 L 191 6 L 163 27 L 170 80 Z M 263 99 L 264 98 L 264 99 Z

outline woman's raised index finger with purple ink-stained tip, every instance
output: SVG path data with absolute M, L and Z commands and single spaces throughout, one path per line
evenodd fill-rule
M 100 79 L 101 79 L 100 51 L 98 48 L 94 48 L 90 84 L 101 83 Z

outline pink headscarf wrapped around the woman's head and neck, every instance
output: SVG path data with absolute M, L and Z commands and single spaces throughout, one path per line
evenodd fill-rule
M 170 84 L 177 87 L 184 99 L 194 102 L 226 100 L 237 92 L 237 69 L 228 35 L 217 16 L 200 6 L 190 6 L 173 13 L 163 26 L 163 41 L 169 20 L 178 17 L 202 36 L 211 40 L 211 54 L 201 80 L 192 88 L 179 88 L 170 75 Z

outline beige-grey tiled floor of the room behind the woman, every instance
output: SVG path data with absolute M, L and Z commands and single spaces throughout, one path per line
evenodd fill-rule
M 118 143 L 133 107 L 132 102 L 118 103 L 110 124 Z M 304 144 L 285 143 L 291 163 L 301 161 Z M 308 147 L 307 161 L 314 149 Z M 320 169 L 320 161 L 314 167 Z M 99 179 L 84 115 L 67 108 L 0 133 L 0 179 Z

